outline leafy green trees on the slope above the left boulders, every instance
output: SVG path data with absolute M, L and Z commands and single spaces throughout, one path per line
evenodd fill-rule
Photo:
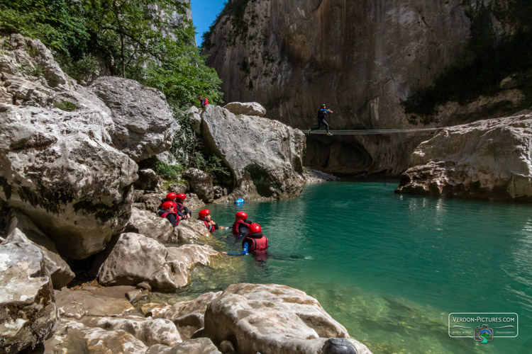
M 0 0 L 0 34 L 40 39 L 77 80 L 95 72 L 160 89 L 171 105 L 221 101 L 218 75 L 194 45 L 187 4 L 173 0 Z

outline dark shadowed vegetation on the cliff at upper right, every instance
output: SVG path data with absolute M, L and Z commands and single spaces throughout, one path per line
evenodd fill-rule
M 471 38 L 465 57 L 443 72 L 433 85 L 414 90 L 403 102 L 404 111 L 422 115 L 423 123 L 431 122 L 436 106 L 449 101 L 467 103 L 479 96 L 492 96 L 500 91 L 502 79 L 514 76 L 518 88 L 527 99 L 522 108 L 532 103 L 532 1 L 494 0 L 488 5 L 469 0 L 467 16 L 471 20 Z M 494 23 L 499 28 L 494 28 Z

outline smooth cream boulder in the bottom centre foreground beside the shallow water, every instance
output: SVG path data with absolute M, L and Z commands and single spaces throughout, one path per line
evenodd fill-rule
M 204 335 L 237 353 L 322 353 L 328 338 L 350 338 L 316 299 L 284 285 L 235 284 L 206 309 Z M 253 339 L 252 339 L 253 338 Z M 357 353 L 371 353 L 350 340 Z

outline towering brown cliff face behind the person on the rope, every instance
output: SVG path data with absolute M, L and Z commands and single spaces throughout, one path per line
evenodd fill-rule
M 316 124 L 322 103 L 336 130 L 413 127 L 401 100 L 460 60 L 470 36 L 461 0 L 241 0 L 226 8 L 207 60 L 224 101 L 257 101 L 270 118 L 300 129 Z M 397 176 L 427 138 L 311 135 L 305 164 Z

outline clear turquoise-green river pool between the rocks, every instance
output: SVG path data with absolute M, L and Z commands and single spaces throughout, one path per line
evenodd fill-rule
M 307 185 L 295 200 L 209 205 L 231 226 L 248 212 L 270 258 L 224 257 L 196 269 L 176 302 L 234 282 L 278 283 L 316 297 L 374 353 L 530 353 L 532 206 L 393 193 L 397 182 Z M 230 231 L 215 247 L 240 251 Z M 448 336 L 450 312 L 516 312 L 517 338 Z

